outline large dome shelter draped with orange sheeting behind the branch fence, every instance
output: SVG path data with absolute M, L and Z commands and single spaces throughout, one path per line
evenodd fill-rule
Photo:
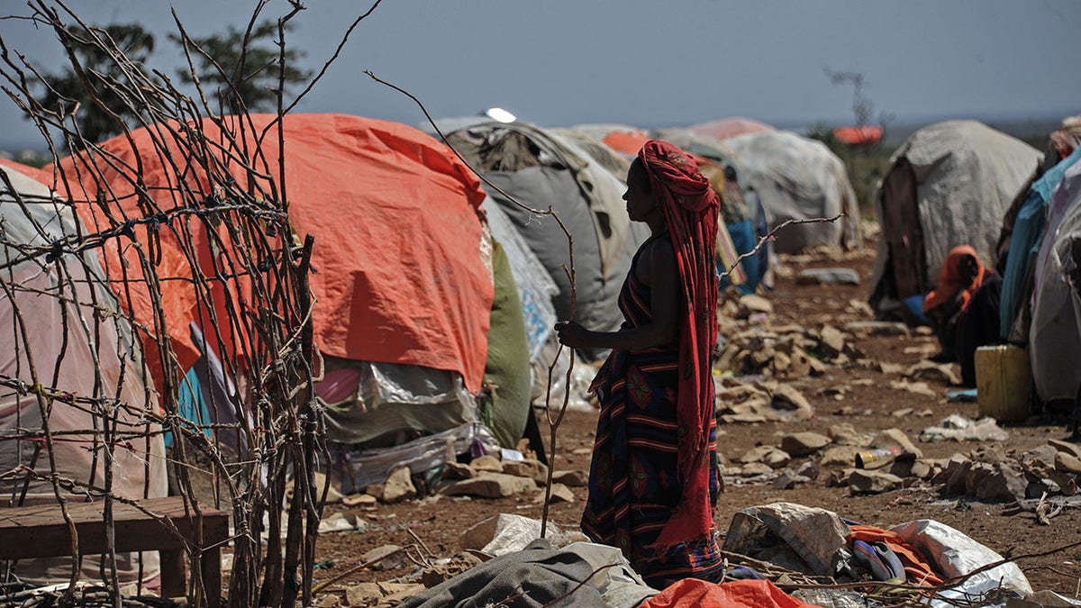
M 166 128 L 177 138 L 239 140 L 237 147 L 249 151 L 250 164 L 272 175 L 278 174 L 283 142 L 282 183 L 295 235 L 315 237 L 309 277 L 316 299 L 313 340 L 324 362 L 317 370 L 324 374 L 317 393 L 329 406 L 329 438 L 400 442 L 475 420 L 471 393 L 483 385 L 494 296 L 491 237 L 479 212 L 484 193 L 476 175 L 444 145 L 404 124 L 291 114 L 282 119 L 280 142 L 275 119 L 251 115 L 225 117 L 228 129 L 212 120 Z M 104 188 L 119 206 L 109 212 L 128 217 L 145 215 L 138 188 L 110 179 L 116 172 L 109 162 L 142 163 L 143 196 L 154 196 L 162 208 L 197 210 L 200 204 L 228 202 L 214 199 L 214 185 L 197 169 L 187 183 L 170 183 L 171 173 L 163 169 L 166 159 L 143 153 L 154 149 L 150 136 L 135 130 L 134 145 L 125 137 L 103 145 L 111 156 L 80 155 L 64 162 L 68 169 L 104 163 L 107 183 L 84 184 L 84 191 Z M 177 149 L 169 161 L 183 159 Z M 264 179 L 248 174 L 227 156 L 217 161 L 230 168 L 237 183 L 267 187 Z M 96 214 L 106 212 L 86 201 L 77 201 L 77 207 L 91 225 Z M 195 227 L 193 242 L 181 242 L 165 226 L 135 229 L 156 229 L 160 264 L 165 270 L 175 265 L 183 275 L 187 257 L 197 259 L 206 272 L 224 264 L 214 242 L 227 227 L 202 228 Z M 118 292 L 121 259 L 133 254 L 130 249 L 106 250 L 111 267 L 107 274 Z M 228 333 L 229 328 L 215 327 L 205 310 L 196 309 L 183 280 L 168 282 L 163 291 L 174 308 L 169 318 L 187 319 L 204 334 L 212 328 Z M 225 298 L 252 301 L 244 293 Z M 154 331 L 154 312 L 138 293 L 123 305 L 146 331 Z M 189 369 L 203 355 L 191 327 L 174 322 L 165 331 Z M 230 343 L 227 335 L 212 342 Z

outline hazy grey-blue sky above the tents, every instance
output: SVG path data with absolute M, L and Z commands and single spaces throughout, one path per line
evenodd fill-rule
M 46 0 L 49 1 L 49 0 Z M 170 8 L 196 36 L 241 26 L 246 0 L 68 0 L 98 25 L 138 22 L 157 36 L 155 67 L 179 52 Z M 291 44 L 309 68 L 333 53 L 370 2 L 306 0 Z M 28 14 L 0 0 L 0 14 Z M 264 14 L 277 17 L 284 0 Z M 785 125 L 852 120 L 852 88 L 825 74 L 864 75 L 866 96 L 898 120 L 1081 114 L 1081 2 L 1076 0 L 385 0 L 299 105 L 417 124 L 424 116 L 370 69 L 438 117 L 502 106 L 556 127 L 688 124 L 746 116 Z M 50 31 L 0 21 L 9 48 L 45 69 L 63 53 Z M 36 147 L 14 104 L 0 100 L 0 147 Z

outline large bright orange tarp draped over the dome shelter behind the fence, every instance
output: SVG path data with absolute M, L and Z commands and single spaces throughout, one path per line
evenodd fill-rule
M 253 115 L 250 119 L 242 133 L 237 119 L 226 117 L 225 121 L 248 149 L 254 150 L 257 135 L 271 127 L 275 116 Z M 223 140 L 218 127 L 209 120 L 201 129 L 208 140 Z M 481 261 L 479 206 L 484 193 L 477 176 L 450 148 L 404 124 L 343 115 L 288 115 L 283 131 L 290 216 L 301 240 L 308 234 L 315 236 L 309 280 L 316 298 L 316 346 L 347 359 L 457 371 L 469 389 L 479 389 L 493 286 Z M 170 184 L 173 174 L 165 171 L 149 133 L 139 129 L 132 138 L 141 159 L 123 136 L 103 146 L 120 161 L 132 166 L 136 160 L 142 162 L 142 176 L 159 208 L 198 207 L 211 194 L 205 175 L 193 172 L 184 185 L 190 191 L 182 198 L 179 189 Z M 173 161 L 179 161 L 177 147 L 171 147 Z M 262 138 L 259 153 L 259 167 L 277 176 L 280 149 L 276 128 Z M 85 156 L 62 161 L 68 175 L 85 162 Z M 111 188 L 110 198 L 120 202 L 111 213 L 121 222 L 124 216 L 149 215 L 138 209 L 131 196 L 134 188 L 117 171 L 103 168 L 102 172 Z M 249 185 L 248 175 L 239 168 L 232 173 L 240 185 Z M 254 180 L 268 189 L 265 181 Z M 94 199 L 96 186 L 84 186 L 84 193 L 78 185 L 72 191 L 80 215 L 89 226 L 108 228 L 102 209 L 88 202 Z M 190 247 L 206 272 L 212 268 L 213 249 L 201 224 L 190 221 L 195 234 Z M 135 229 L 145 237 L 151 228 Z M 225 227 L 217 229 L 227 236 Z M 189 267 L 183 253 L 186 244 L 164 226 L 158 236 L 164 265 L 158 273 L 183 276 Z M 134 293 L 129 302 L 119 289 L 120 259 L 134 261 L 134 255 L 128 239 L 110 239 L 103 263 L 112 268 L 112 285 L 136 319 L 152 328 L 148 295 Z M 138 264 L 130 264 L 128 272 L 137 278 Z M 182 365 L 190 365 L 195 348 L 187 322 L 176 319 L 199 316 L 195 293 L 182 281 L 166 281 L 162 290 L 170 305 L 169 335 Z M 252 302 L 249 294 L 232 296 Z M 219 329 L 226 334 L 229 330 Z

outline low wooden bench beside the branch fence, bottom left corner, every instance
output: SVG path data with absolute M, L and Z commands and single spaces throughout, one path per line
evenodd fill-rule
M 183 497 L 146 499 L 139 508 L 112 503 L 114 545 L 118 553 L 157 551 L 161 556 L 161 595 L 179 597 L 187 585 L 184 553 L 188 544 L 203 546 L 202 581 L 208 590 L 206 605 L 217 608 L 222 594 L 222 546 L 229 537 L 229 517 L 223 511 L 202 507 L 202 542 L 196 529 L 195 512 L 185 511 Z M 68 514 L 79 534 L 79 553 L 106 553 L 105 503 L 69 502 Z M 172 521 L 176 536 L 161 519 Z M 71 555 L 71 534 L 57 504 L 0 507 L 0 560 Z

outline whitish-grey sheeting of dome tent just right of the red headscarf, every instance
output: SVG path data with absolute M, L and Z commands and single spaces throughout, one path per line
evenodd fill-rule
M 763 131 L 725 140 L 747 173 L 773 229 L 788 220 L 843 217 L 795 224 L 776 234 L 778 253 L 859 244 L 859 204 L 844 163 L 825 144 L 790 131 Z

